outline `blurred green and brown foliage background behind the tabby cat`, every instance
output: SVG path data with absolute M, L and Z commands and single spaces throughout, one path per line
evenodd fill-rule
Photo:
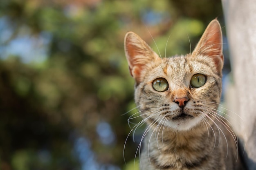
M 185 54 L 216 17 L 220 0 L 1 0 L 0 170 L 137 170 L 124 35 Z

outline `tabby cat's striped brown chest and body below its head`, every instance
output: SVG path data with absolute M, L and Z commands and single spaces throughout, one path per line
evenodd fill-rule
M 222 127 L 221 125 L 219 125 Z M 203 127 L 202 127 L 203 128 Z M 214 127 L 213 127 L 214 128 Z M 157 132 L 158 137 L 145 137 L 144 150 L 141 153 L 142 170 L 226 170 L 226 161 L 234 159 L 236 144 L 229 144 L 231 148 L 227 156 L 227 145 L 223 134 L 213 134 L 218 129 L 207 132 L 186 134 L 164 130 Z M 150 133 L 152 134 L 152 133 Z M 153 132 L 155 135 L 155 132 Z M 161 136 L 160 136 L 161 135 Z M 231 156 L 231 157 L 230 157 Z M 225 157 L 225 159 L 223 159 Z M 236 158 L 235 158 L 236 159 Z M 230 170 L 235 169 L 230 164 Z

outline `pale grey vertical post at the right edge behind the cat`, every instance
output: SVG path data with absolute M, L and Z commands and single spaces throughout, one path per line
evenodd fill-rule
M 226 101 L 247 168 L 256 170 L 256 0 L 222 0 L 234 78 Z

